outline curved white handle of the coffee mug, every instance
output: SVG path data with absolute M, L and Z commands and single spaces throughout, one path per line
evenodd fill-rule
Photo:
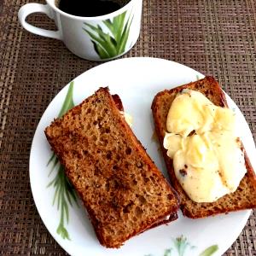
M 47 37 L 47 38 L 55 38 L 62 40 L 61 32 L 58 31 L 51 31 L 43 28 L 39 28 L 36 26 L 32 26 L 26 22 L 26 17 L 33 13 L 43 13 L 47 15 L 50 19 L 53 19 L 53 15 L 51 13 L 51 9 L 47 4 L 40 4 L 40 3 L 26 3 L 23 5 L 18 13 L 18 18 L 20 20 L 21 26 L 23 26 L 28 32 L 32 32 L 33 34 L 37 34 L 39 36 Z

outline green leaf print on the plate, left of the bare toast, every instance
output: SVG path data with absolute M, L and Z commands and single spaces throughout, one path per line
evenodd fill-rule
M 67 113 L 67 111 L 73 107 L 73 82 L 71 82 L 69 84 L 65 100 L 62 104 L 61 111 L 58 114 L 58 118 L 61 118 L 63 114 Z M 72 184 L 69 182 L 67 176 L 65 175 L 64 167 L 61 166 L 61 164 L 59 163 L 55 153 L 51 155 L 47 166 L 49 166 L 49 164 L 52 165 L 49 171 L 49 176 L 54 170 L 56 170 L 56 175 L 47 187 L 49 188 L 50 186 L 53 186 L 55 188 L 53 206 L 56 205 L 57 210 L 61 211 L 60 223 L 57 227 L 56 232 L 63 239 L 70 240 L 68 231 L 65 227 L 65 224 L 68 224 L 69 219 L 68 207 L 73 207 L 73 203 L 76 203 L 77 206 L 79 206 L 78 197 L 75 190 L 73 189 Z

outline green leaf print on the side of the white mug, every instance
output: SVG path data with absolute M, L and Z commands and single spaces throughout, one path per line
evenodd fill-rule
M 83 30 L 90 36 L 97 55 L 104 60 L 125 52 L 128 41 L 131 21 L 131 15 L 125 21 L 126 12 L 116 16 L 113 20 L 103 20 L 102 23 L 107 26 L 108 32 L 103 32 L 102 26 L 93 26 L 84 22 Z

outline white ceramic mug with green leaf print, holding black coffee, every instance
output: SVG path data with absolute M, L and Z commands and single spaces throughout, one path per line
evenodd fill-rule
M 143 0 L 130 0 L 108 15 L 79 17 L 58 9 L 55 0 L 46 0 L 45 5 L 26 3 L 18 16 L 27 31 L 60 39 L 73 54 L 86 60 L 106 61 L 124 55 L 137 42 L 142 9 Z M 49 31 L 27 23 L 26 17 L 33 13 L 44 13 L 55 20 L 58 30 Z

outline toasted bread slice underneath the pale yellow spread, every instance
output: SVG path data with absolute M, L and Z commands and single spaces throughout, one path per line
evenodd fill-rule
M 180 196 L 180 207 L 183 215 L 189 218 L 202 218 L 222 212 L 232 212 L 256 207 L 256 177 L 246 152 L 245 162 L 247 173 L 245 177 L 242 178 L 236 192 L 230 195 L 224 195 L 218 199 L 218 201 L 212 203 L 196 203 L 195 201 L 190 200 L 189 196 L 184 192 L 175 176 L 172 159 L 167 156 L 167 150 L 163 147 L 163 140 L 166 133 L 166 118 L 169 108 L 171 107 L 172 101 L 177 96 L 177 93 L 183 89 L 200 91 L 215 105 L 228 107 L 224 92 L 221 90 L 218 82 L 212 77 L 206 77 L 205 79 L 193 83 L 184 84 L 183 86 L 179 86 L 172 90 L 164 90 L 154 96 L 152 111 L 155 131 L 159 138 L 172 186 L 177 190 L 177 194 Z

